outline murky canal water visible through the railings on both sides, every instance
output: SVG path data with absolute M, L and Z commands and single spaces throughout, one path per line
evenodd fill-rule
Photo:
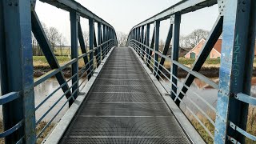
M 85 79 L 82 79 L 81 82 L 84 80 Z M 218 78 L 212 78 L 212 80 L 218 83 Z M 86 81 L 87 80 L 85 80 L 84 84 L 86 83 Z M 180 82 L 178 82 L 179 89 L 182 88 L 182 82 L 184 82 L 184 78 L 181 78 Z M 164 81 L 162 82 L 162 84 L 168 84 L 170 86 L 169 81 Z M 71 86 L 70 82 L 69 86 Z M 38 106 L 49 94 L 51 94 L 58 87 L 59 84 L 56 78 L 49 78 L 45 82 L 42 82 L 42 84 L 36 86 L 34 88 L 35 106 Z M 181 108 L 186 112 L 186 108 L 189 107 L 190 110 L 194 112 L 194 114 L 197 114 L 199 110 L 197 106 L 194 106 L 194 102 L 206 114 L 210 114 L 213 112 L 213 110 L 210 109 L 210 106 L 216 106 L 217 94 L 218 90 L 213 89 L 212 87 L 208 86 L 206 83 L 198 79 L 195 79 L 193 84 L 190 86 L 190 90 L 187 91 L 186 97 L 183 98 L 183 104 L 181 105 Z M 42 106 L 40 106 L 38 110 L 36 110 L 36 119 L 38 120 L 39 118 L 41 118 L 42 115 L 45 114 L 47 110 L 50 110 L 51 106 L 53 106 L 54 103 L 60 99 L 58 104 L 54 106 L 52 110 L 50 110 L 49 114 L 47 114 L 43 120 L 49 121 L 51 118 L 53 118 L 54 115 L 58 112 L 58 110 L 60 110 L 60 108 L 66 102 L 66 97 L 64 96 L 63 98 L 61 98 L 62 95 L 63 92 L 62 89 L 60 89 L 52 97 L 50 97 Z M 251 95 L 254 97 L 256 96 L 256 78 L 252 78 Z M 207 106 L 206 103 L 202 101 L 202 98 L 206 102 L 208 102 L 210 106 Z M 0 107 L 0 109 L 0 115 L 2 116 L 2 106 Z M 66 113 L 66 110 L 68 110 L 68 103 L 66 103 L 66 106 L 63 107 L 63 109 L 56 116 L 56 118 L 54 118 L 54 122 L 58 122 L 60 118 L 62 118 L 62 116 Z

